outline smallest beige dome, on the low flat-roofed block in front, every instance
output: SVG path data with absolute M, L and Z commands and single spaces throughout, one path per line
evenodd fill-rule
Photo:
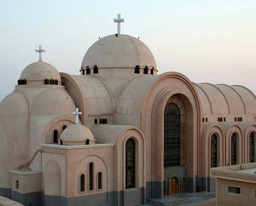
M 85 145 L 95 143 L 93 133 L 87 127 L 74 124 L 67 127 L 59 137 L 63 145 Z M 87 143 L 86 143 L 87 142 Z

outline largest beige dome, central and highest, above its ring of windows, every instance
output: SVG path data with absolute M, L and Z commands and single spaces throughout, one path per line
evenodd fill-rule
M 129 35 L 110 35 L 95 42 L 84 55 L 81 66 L 92 68 L 94 65 L 99 68 L 154 66 L 157 70 L 155 58 L 149 48 Z

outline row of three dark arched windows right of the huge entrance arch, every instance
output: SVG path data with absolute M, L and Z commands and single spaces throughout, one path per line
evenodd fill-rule
M 250 132 L 249 135 L 249 162 L 255 162 L 255 135 L 253 132 Z M 231 152 L 230 152 L 230 158 L 231 158 L 231 165 L 238 164 L 238 139 L 237 134 L 232 133 L 231 135 Z M 210 167 L 217 167 L 218 165 L 218 138 L 216 134 L 213 134 L 210 138 Z

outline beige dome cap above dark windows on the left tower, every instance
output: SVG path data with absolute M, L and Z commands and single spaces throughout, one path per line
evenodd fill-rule
M 26 80 L 44 80 L 44 79 L 57 79 L 61 81 L 61 75 L 59 75 L 56 68 L 46 62 L 37 61 L 27 65 L 21 73 L 20 79 Z

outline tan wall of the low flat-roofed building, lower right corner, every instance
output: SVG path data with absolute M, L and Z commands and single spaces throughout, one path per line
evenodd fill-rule
M 228 194 L 227 185 L 241 187 L 241 195 Z M 217 178 L 216 205 L 218 206 L 256 205 L 256 198 L 253 198 L 253 190 L 256 190 L 255 183 L 225 180 L 225 179 Z

